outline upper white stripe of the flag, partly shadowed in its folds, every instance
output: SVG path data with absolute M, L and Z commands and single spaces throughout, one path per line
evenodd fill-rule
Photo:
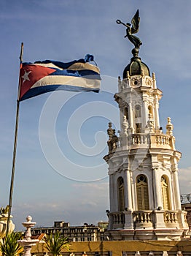
M 53 63 L 35 63 L 35 65 L 38 65 L 38 66 L 42 66 L 42 67 L 52 67 L 52 68 L 55 68 L 55 69 L 61 69 L 63 70 L 61 67 L 58 67 L 56 66 L 55 64 Z M 84 69 L 90 69 L 90 70 L 93 70 L 95 72 L 97 72 L 98 74 L 100 73 L 100 70 L 98 67 L 92 65 L 92 64 L 89 64 L 89 63 L 75 63 L 71 66 L 69 66 L 67 69 L 72 69 L 72 70 L 84 70 Z

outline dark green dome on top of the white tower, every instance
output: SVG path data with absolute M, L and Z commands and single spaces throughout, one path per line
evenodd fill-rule
M 141 58 L 133 57 L 130 60 L 130 64 L 128 64 L 128 66 L 125 67 L 125 69 L 123 71 L 122 78 L 123 79 L 128 78 L 128 72 L 129 72 L 130 76 L 131 75 L 141 75 L 141 70 L 143 70 L 144 75 L 150 76 L 149 67 L 147 67 L 147 65 L 141 61 Z

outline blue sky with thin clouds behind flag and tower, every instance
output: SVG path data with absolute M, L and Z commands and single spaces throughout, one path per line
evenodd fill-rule
M 12 206 L 16 229 L 28 214 L 36 226 L 63 219 L 71 225 L 106 220 L 106 129 L 109 120 L 119 129 L 113 94 L 133 48 L 124 39 L 125 28 L 115 20 L 130 22 L 137 9 L 143 42 L 139 55 L 163 91 L 160 125 L 165 128 L 171 116 L 176 149 L 182 151 L 181 192 L 191 192 L 191 1 L 1 0 L 1 206 L 9 201 L 20 43 L 24 42 L 24 61 L 67 62 L 91 53 L 103 76 L 100 94 L 56 92 L 20 103 Z M 57 143 L 60 154 L 52 149 Z

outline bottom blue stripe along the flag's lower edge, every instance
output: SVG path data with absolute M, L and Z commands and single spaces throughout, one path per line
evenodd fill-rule
M 68 85 L 53 85 L 53 86 L 39 86 L 36 88 L 32 88 L 23 95 L 20 101 L 24 99 L 29 99 L 31 97 L 35 97 L 40 94 L 44 94 L 50 91 L 63 90 L 63 91 L 94 91 L 99 92 L 99 89 L 91 89 L 87 87 L 81 86 L 68 86 Z

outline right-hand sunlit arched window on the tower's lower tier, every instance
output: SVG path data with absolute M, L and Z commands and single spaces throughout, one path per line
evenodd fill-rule
M 162 189 L 162 198 L 163 198 L 163 209 L 171 210 L 168 178 L 166 176 L 161 177 L 161 189 Z

